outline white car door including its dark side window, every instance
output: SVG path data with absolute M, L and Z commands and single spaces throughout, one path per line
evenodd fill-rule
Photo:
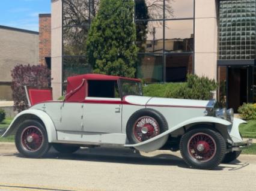
M 122 104 L 117 81 L 88 81 L 84 105 L 84 131 L 121 133 Z

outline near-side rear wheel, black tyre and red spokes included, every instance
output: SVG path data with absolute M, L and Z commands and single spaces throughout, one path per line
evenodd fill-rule
M 19 125 L 15 144 L 20 154 L 32 158 L 43 157 L 50 148 L 46 129 L 37 120 L 25 120 Z

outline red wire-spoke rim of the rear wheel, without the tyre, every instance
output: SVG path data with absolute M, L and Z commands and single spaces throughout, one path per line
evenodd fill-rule
M 28 151 L 38 151 L 43 145 L 43 133 L 37 126 L 28 126 L 22 131 L 23 148 Z

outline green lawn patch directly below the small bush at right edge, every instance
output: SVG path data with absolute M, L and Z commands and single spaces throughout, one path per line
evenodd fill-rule
M 244 138 L 256 138 L 256 120 L 249 120 L 247 124 L 241 124 L 239 131 Z

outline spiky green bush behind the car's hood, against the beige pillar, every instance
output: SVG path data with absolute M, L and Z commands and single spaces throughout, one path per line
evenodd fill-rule
M 178 87 L 176 90 L 166 92 L 167 98 L 180 99 L 213 99 L 213 91 L 218 88 L 215 80 L 208 77 L 198 77 L 194 74 L 187 74 L 187 83 Z

